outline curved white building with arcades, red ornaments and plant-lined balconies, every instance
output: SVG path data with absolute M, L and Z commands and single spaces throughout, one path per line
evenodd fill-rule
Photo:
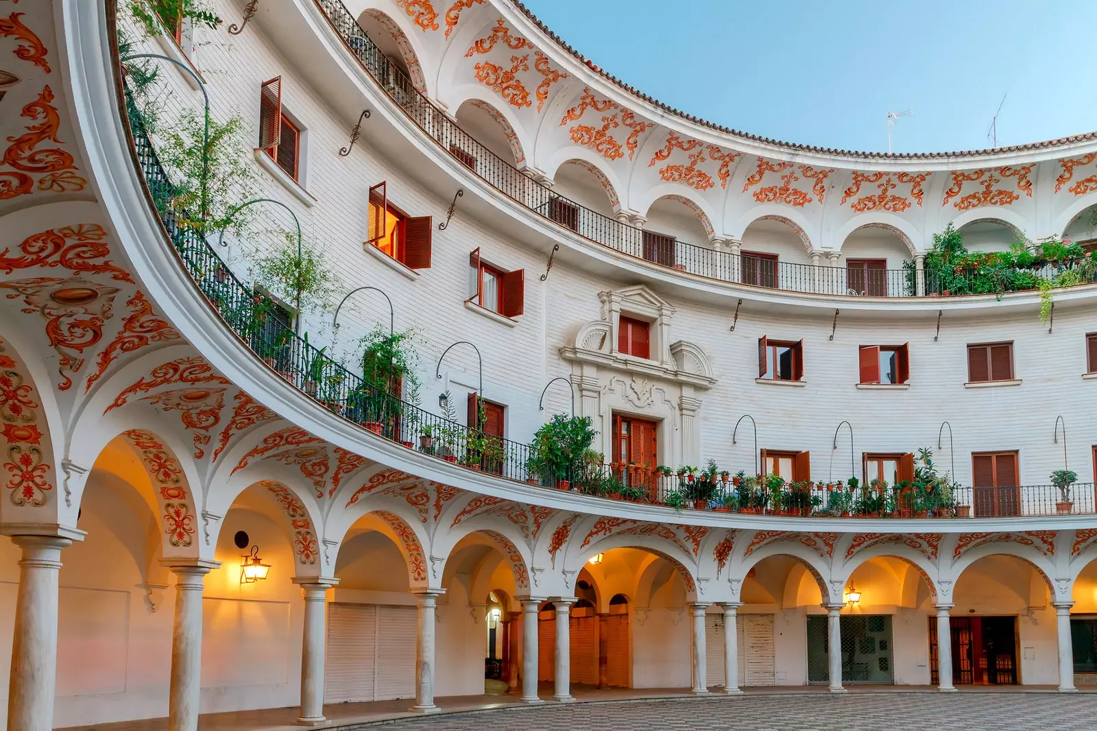
M 512 0 L 4 4 L 9 729 L 1097 685 L 1094 134 L 748 135 Z

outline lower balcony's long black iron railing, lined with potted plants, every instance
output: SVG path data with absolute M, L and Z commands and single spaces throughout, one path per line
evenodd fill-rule
M 894 490 L 858 492 L 818 483 L 806 493 L 802 485 L 796 490 L 790 486 L 788 491 L 748 493 L 733 482 L 720 481 L 708 498 L 694 504 L 679 499 L 690 493 L 692 481 L 656 474 L 651 468 L 581 463 L 562 471 L 546 470 L 536 462 L 536 450 L 531 445 L 488 436 L 475 425 L 465 426 L 432 414 L 377 387 L 298 338 L 281 318 L 271 316 L 272 301 L 237 279 L 202 232 L 190 223 L 195 218 L 174 207 L 178 189 L 157 156 L 128 89 L 124 93 L 135 159 L 180 262 L 225 324 L 258 358 L 332 414 L 410 450 L 550 490 L 750 515 L 923 517 L 914 502 Z M 1075 484 L 1065 497 L 1070 505 L 1064 508 L 1061 491 L 1052 485 L 954 488 L 948 499 L 938 501 L 940 505 L 932 513 L 937 517 L 1093 514 L 1094 495 L 1093 484 Z

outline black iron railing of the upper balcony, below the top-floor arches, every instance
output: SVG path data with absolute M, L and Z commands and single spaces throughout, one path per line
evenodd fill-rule
M 592 211 L 534 181 L 499 157 L 417 91 L 403 69 L 396 66 L 362 30 L 341 0 L 314 0 L 347 49 L 377 86 L 419 128 L 445 153 L 453 155 L 480 179 L 504 195 L 564 228 L 621 254 L 679 271 L 753 286 L 810 294 L 913 297 L 959 296 L 1036 290 L 1032 278 L 1007 278 L 987 282 L 979 270 L 939 275 L 917 271 L 914 262 L 903 269 L 847 270 L 759 259 L 712 247 L 698 246 L 645 233 L 615 218 Z M 1033 274 L 1061 272 L 1068 265 L 1025 270 Z M 1078 283 L 1097 281 L 1097 272 L 1086 271 Z

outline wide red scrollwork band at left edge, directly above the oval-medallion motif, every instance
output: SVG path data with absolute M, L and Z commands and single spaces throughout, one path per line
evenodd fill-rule
M 129 272 L 104 258 L 111 254 L 104 238 L 106 232 L 99 224 L 49 228 L 23 239 L 19 245 L 22 256 L 11 256 L 10 248 L 0 251 L 0 271 L 10 274 L 16 269 L 60 267 L 77 274 L 110 274 L 115 281 L 133 284 Z

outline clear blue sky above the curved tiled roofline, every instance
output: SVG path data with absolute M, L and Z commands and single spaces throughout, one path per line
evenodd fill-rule
M 1097 130 L 1094 0 L 524 0 L 656 99 L 789 142 L 896 153 Z

